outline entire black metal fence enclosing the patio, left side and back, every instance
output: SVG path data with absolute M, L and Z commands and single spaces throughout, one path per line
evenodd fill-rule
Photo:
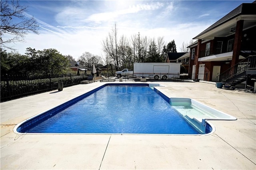
M 156 79 L 155 75 L 159 78 Z M 163 77 L 166 75 L 166 77 Z M 132 75 L 124 75 L 117 78 L 114 75 L 106 74 L 107 79 L 115 79 L 116 81 L 141 81 L 141 78 L 145 78 L 146 81 L 194 81 L 191 79 L 192 75 L 188 73 L 136 73 Z M 206 80 L 207 74 L 204 74 L 204 79 Z M 165 79 L 166 78 L 166 79 Z M 0 101 L 9 101 L 12 99 L 18 99 L 20 97 L 25 97 L 29 95 L 34 95 L 38 93 L 43 93 L 46 91 L 52 91 L 57 89 L 58 82 L 63 82 L 64 87 L 78 85 L 80 81 L 86 80 L 87 76 L 69 74 L 69 75 L 59 75 L 59 76 L 27 76 L 27 75 L 2 75 L 0 92 Z M 96 81 L 100 81 L 102 77 L 96 77 Z

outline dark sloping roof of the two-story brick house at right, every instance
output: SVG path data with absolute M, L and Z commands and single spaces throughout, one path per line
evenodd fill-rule
M 210 30 L 213 30 L 214 28 L 217 28 L 228 21 L 242 15 L 256 15 L 256 1 L 252 3 L 244 3 L 232 10 L 230 13 L 228 13 L 226 16 L 212 24 L 210 27 L 208 27 L 206 30 L 198 34 L 196 37 L 193 39 L 198 39 L 198 37 L 202 36 L 203 34 L 206 34 Z M 200 39 L 200 38 L 199 38 Z

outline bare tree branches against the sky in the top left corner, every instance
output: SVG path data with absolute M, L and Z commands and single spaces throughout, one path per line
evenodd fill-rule
M 20 6 L 19 1 L 1 0 L 1 26 L 0 26 L 0 44 L 1 47 L 13 49 L 8 43 L 25 42 L 24 37 L 29 32 L 39 34 L 39 26 L 34 17 L 27 17 L 28 6 Z M 2 38 L 5 36 L 6 38 Z

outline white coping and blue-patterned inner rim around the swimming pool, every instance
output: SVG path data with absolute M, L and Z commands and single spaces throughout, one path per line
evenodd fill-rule
M 160 97 L 162 97 L 166 102 L 168 102 L 169 104 L 172 103 L 172 102 L 176 102 L 177 100 L 181 100 L 181 99 L 186 99 L 186 100 L 189 100 L 191 104 L 195 104 L 200 107 L 201 109 L 204 109 L 206 111 L 213 111 L 215 112 L 216 114 L 222 114 L 222 115 L 226 115 L 227 117 L 229 117 L 230 119 L 221 119 L 221 118 L 203 118 L 201 121 L 198 120 L 197 118 L 193 118 L 194 120 L 196 120 L 199 124 L 201 124 L 201 126 L 204 126 L 206 129 L 207 127 L 209 128 L 210 126 L 210 129 L 211 131 L 210 132 L 206 132 L 206 133 L 202 133 L 202 131 L 200 131 L 200 129 L 198 129 L 198 132 L 200 134 L 150 134 L 150 133 L 147 133 L 147 134 L 144 134 L 144 133 L 39 133 L 39 132 L 18 132 L 18 129 L 19 128 L 26 128 L 28 127 L 29 125 L 37 122 L 38 120 L 41 120 L 41 119 L 44 119 L 45 117 L 47 117 L 48 115 L 52 115 L 52 113 L 56 112 L 56 111 L 59 111 L 59 110 L 62 110 L 63 108 L 66 108 L 66 107 L 69 107 L 71 105 L 73 105 L 74 103 L 76 103 L 77 101 L 80 101 L 80 99 L 83 99 L 85 97 L 88 97 L 89 95 L 91 95 L 92 93 L 95 93 L 96 91 L 108 86 L 108 85 L 146 85 L 148 87 L 153 87 L 153 91 L 156 92 L 158 95 L 160 95 Z M 151 85 L 151 86 L 150 86 Z M 212 107 L 209 107 L 207 105 L 204 105 L 198 101 L 195 101 L 193 99 L 190 99 L 190 98 L 168 98 L 166 95 L 164 95 L 164 93 L 162 93 L 160 90 L 157 90 L 155 87 L 164 87 L 163 85 L 160 85 L 160 84 L 157 84 L 157 83 L 105 83 L 95 89 L 92 89 L 90 91 L 88 91 L 87 93 L 84 93 L 82 95 L 79 95 L 78 97 L 75 97 L 73 99 L 70 99 L 69 101 L 66 101 L 64 103 L 61 103 L 60 105 L 57 105 L 51 109 L 48 109 L 42 113 L 39 113 L 37 115 L 34 115 L 20 123 L 18 123 L 13 131 L 14 133 L 16 134 L 125 134 L 125 135 L 193 135 L 193 136 L 197 136 L 197 135 L 200 135 L 200 136 L 204 136 L 204 135 L 210 135 L 212 133 L 215 132 L 216 128 L 214 127 L 214 124 L 213 123 L 210 123 L 208 121 L 210 120 L 226 120 L 226 121 L 230 121 L 230 120 L 236 120 L 235 117 L 232 117 L 224 112 L 221 112 L 221 111 L 218 111 L 217 109 L 214 109 Z M 180 113 L 181 115 L 181 113 Z M 181 115 L 182 116 L 182 115 Z M 38 120 L 36 119 L 38 118 Z M 183 119 L 185 119 L 184 117 L 182 117 Z M 34 121 L 33 121 L 34 120 Z M 30 121 L 31 123 L 30 124 L 26 124 L 26 122 Z M 193 125 L 190 123 L 190 121 L 188 121 L 187 119 L 185 119 L 185 121 L 187 121 L 192 127 L 194 127 L 195 129 L 197 129 L 196 125 Z M 23 125 L 24 124 L 24 125 Z M 208 125 L 207 125 L 208 124 Z M 23 127 L 21 126 L 23 125 Z M 26 126 L 25 126 L 26 125 Z M 25 126 L 25 127 L 24 127 Z

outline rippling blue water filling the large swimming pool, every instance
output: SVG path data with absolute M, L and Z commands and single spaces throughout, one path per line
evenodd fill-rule
M 17 131 L 200 134 L 176 109 L 146 85 L 106 85 L 61 110 Z

